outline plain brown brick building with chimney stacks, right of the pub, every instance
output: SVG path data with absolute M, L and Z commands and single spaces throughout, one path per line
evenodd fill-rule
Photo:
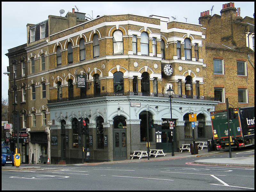
M 223 4 L 220 15 L 201 12 L 206 28 L 206 92 L 218 98 L 215 110 L 254 106 L 254 15 L 240 17 L 234 3 Z M 232 107 L 232 106 L 229 106 Z

